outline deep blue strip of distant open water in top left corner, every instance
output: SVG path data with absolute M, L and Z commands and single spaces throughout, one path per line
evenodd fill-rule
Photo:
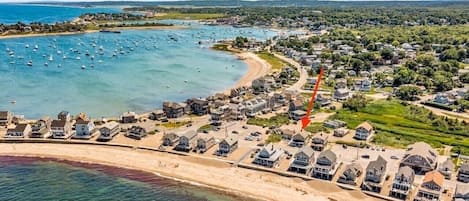
M 121 12 L 121 10 L 115 7 L 78 8 L 27 4 L 0 4 L 0 24 L 15 24 L 18 21 L 23 23 L 55 23 L 73 20 L 84 13 L 96 12 L 116 13 Z

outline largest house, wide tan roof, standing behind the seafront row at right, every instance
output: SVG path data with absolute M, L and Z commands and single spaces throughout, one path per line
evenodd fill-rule
M 409 145 L 400 166 L 409 166 L 416 174 L 432 171 L 436 167 L 436 151 L 425 142 Z

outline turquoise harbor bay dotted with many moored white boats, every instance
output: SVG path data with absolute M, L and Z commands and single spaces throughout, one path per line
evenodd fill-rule
M 211 50 L 215 40 L 276 35 L 258 28 L 165 22 L 185 28 L 1 39 L 0 110 L 26 118 L 62 110 L 99 118 L 161 108 L 165 100 L 205 97 L 235 85 L 247 71 L 236 56 Z

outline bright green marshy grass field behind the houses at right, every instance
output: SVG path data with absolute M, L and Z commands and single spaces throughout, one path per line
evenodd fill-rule
M 451 145 L 454 150 L 461 149 L 469 154 L 469 126 L 437 116 L 422 107 L 379 100 L 369 103 L 359 112 L 340 110 L 331 119 L 346 121 L 351 129 L 369 121 L 377 131 L 373 140 L 376 144 L 403 148 L 424 141 L 435 148 Z

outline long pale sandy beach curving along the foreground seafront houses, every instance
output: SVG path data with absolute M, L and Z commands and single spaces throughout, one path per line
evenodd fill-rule
M 74 144 L 1 144 L 0 155 L 50 157 L 111 165 L 196 182 L 208 187 L 263 200 L 375 200 L 324 181 L 303 181 L 272 173 L 231 167 L 215 159 L 179 156 L 129 148 Z

